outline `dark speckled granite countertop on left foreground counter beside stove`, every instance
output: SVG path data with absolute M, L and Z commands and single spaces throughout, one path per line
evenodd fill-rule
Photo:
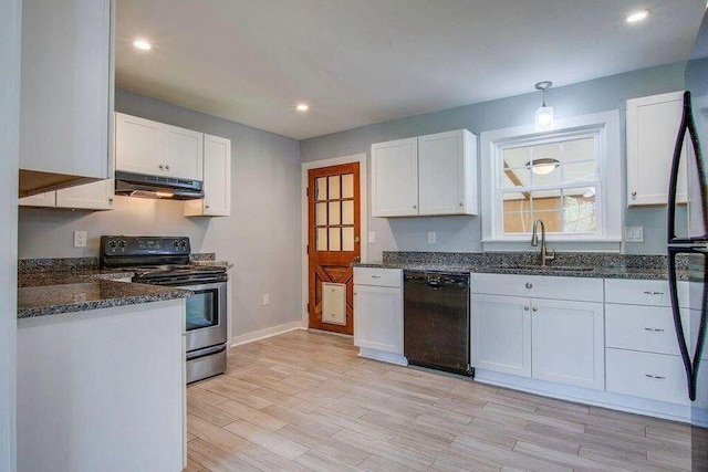
M 25 286 L 18 290 L 18 318 L 186 298 L 191 295 L 186 290 L 106 280 Z

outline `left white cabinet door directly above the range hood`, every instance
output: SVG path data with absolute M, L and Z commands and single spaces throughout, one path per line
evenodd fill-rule
M 115 168 L 126 172 L 166 175 L 162 124 L 116 113 Z

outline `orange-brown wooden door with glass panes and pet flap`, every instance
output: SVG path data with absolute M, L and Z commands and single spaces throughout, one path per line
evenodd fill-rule
M 308 313 L 311 328 L 354 333 L 352 262 L 361 258 L 358 179 L 358 162 L 308 172 Z M 345 319 L 327 319 L 329 313 L 323 319 L 324 289 L 334 293 L 331 297 L 327 295 L 327 300 L 335 305 L 340 300 L 336 294 L 344 291 Z

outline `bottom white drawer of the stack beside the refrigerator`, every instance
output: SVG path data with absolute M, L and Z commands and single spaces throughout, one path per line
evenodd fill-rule
M 678 356 L 607 348 L 605 363 L 607 391 L 688 403 L 684 363 Z

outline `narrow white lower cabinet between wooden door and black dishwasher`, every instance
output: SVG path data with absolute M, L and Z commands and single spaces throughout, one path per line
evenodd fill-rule
M 354 268 L 354 345 L 361 355 L 405 364 L 403 272 Z

